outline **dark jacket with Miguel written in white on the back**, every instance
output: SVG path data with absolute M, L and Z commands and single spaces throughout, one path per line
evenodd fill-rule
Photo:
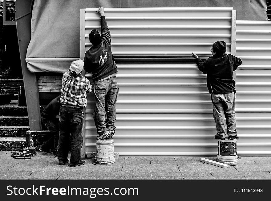
M 104 16 L 101 16 L 101 32 L 101 43 L 92 46 L 84 58 L 85 71 L 92 73 L 94 82 L 118 72 L 111 52 L 111 35 Z

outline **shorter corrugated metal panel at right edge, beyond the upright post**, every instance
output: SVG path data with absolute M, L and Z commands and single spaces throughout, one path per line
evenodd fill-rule
M 244 119 L 237 126 L 247 130 L 239 132 L 237 150 L 246 155 L 271 154 L 270 33 L 270 21 L 237 21 L 236 56 L 242 65 L 236 71 L 236 108 L 243 111 L 236 117 Z

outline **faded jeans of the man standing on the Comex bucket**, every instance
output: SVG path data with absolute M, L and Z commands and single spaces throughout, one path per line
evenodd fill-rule
M 235 121 L 235 98 L 234 93 L 229 94 L 211 94 L 213 104 L 213 117 L 216 122 L 216 135 L 226 137 L 224 115 L 227 124 L 228 136 L 236 136 Z

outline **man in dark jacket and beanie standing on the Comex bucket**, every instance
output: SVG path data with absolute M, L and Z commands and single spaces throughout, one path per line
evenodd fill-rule
M 213 104 L 213 117 L 216 122 L 215 139 L 224 140 L 226 137 L 224 131 L 224 115 L 227 124 L 228 139 L 239 139 L 236 131 L 235 121 L 235 81 L 233 80 L 233 71 L 242 64 L 240 58 L 226 54 L 226 43 L 216 41 L 212 44 L 212 55 L 204 62 L 192 53 L 196 59 L 198 69 L 207 73 L 207 87 L 211 94 Z

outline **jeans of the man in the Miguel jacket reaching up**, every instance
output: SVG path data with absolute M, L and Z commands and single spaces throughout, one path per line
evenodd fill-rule
M 93 89 L 95 98 L 93 119 L 97 134 L 102 135 L 110 130 L 115 132 L 116 101 L 119 90 L 116 76 L 95 82 Z

